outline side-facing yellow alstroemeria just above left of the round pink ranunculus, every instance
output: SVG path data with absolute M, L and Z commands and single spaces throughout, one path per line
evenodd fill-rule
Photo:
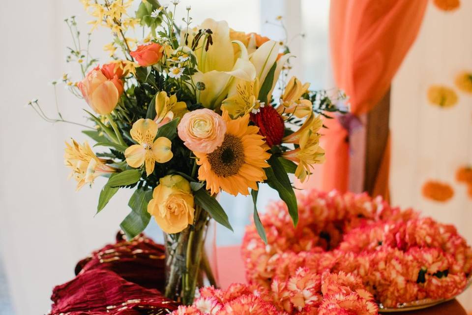
M 170 122 L 176 117 L 182 116 L 188 112 L 185 102 L 177 102 L 177 95 L 167 96 L 165 91 L 161 91 L 156 95 L 156 118 L 154 121 L 158 126 L 162 126 Z

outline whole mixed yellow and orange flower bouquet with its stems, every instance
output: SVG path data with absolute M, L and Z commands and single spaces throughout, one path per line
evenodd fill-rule
M 97 212 L 119 189 L 134 190 L 120 227 L 133 238 L 154 217 L 166 235 L 164 293 L 191 304 L 202 270 L 214 284 L 203 246 L 209 221 L 232 229 L 218 193 L 251 194 L 255 205 L 259 183 L 267 183 L 296 224 L 289 173 L 304 181 L 310 166 L 323 162 L 322 116 L 337 108 L 327 92 L 287 80 L 292 55 L 285 42 L 236 32 L 225 21 L 193 27 L 190 7 L 179 28 L 177 0 L 171 7 L 143 0 L 135 13 L 132 0 L 81 2 L 94 17 L 92 30 L 111 30 L 111 61 L 97 65 L 90 34 L 84 49 L 75 18 L 66 19 L 74 40 L 67 61 L 80 65 L 83 78 L 62 81 L 89 104 L 94 126 L 82 125 L 83 132 L 103 150 L 72 140 L 65 164 L 77 189 L 108 177 Z M 148 34 L 139 41 L 130 35 L 137 28 Z M 50 122 L 70 122 L 59 110 L 57 119 L 47 117 L 37 100 L 30 105 Z M 254 221 L 266 242 L 256 207 Z

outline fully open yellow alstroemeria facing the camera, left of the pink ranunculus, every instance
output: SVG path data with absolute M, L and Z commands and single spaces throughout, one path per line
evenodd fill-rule
M 158 128 L 152 119 L 139 119 L 129 132 L 138 144 L 134 144 L 124 151 L 126 163 L 131 167 L 141 167 L 146 164 L 148 176 L 154 171 L 155 162 L 165 163 L 174 156 L 171 151 L 171 140 L 166 137 L 154 140 Z

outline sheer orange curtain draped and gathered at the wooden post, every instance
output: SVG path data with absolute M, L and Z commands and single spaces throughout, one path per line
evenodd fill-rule
M 387 92 L 418 33 L 428 0 L 331 0 L 330 45 L 336 85 L 349 95 L 351 112 L 370 111 Z M 349 131 L 328 120 L 323 189 L 346 191 Z M 385 152 L 385 157 L 389 153 Z M 382 163 L 384 167 L 384 162 Z M 388 169 L 376 183 L 386 187 Z M 379 190 L 379 189 L 377 189 Z

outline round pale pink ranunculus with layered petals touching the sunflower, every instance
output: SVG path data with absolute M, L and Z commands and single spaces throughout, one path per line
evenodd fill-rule
M 183 115 L 177 130 L 187 148 L 193 152 L 211 153 L 223 143 L 226 123 L 214 111 L 203 108 Z

